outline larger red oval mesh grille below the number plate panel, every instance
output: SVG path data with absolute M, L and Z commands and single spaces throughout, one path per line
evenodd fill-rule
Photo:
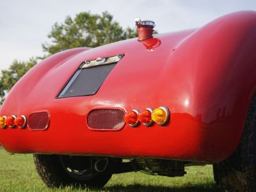
M 95 109 L 87 117 L 90 129 L 119 130 L 124 127 L 124 111 L 120 109 Z

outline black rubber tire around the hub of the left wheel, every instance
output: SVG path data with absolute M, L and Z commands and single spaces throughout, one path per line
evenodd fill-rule
M 74 188 L 102 188 L 111 178 L 111 174 L 97 173 L 88 180 L 75 179 L 64 170 L 60 156 L 34 154 L 36 170 L 49 188 L 73 186 Z

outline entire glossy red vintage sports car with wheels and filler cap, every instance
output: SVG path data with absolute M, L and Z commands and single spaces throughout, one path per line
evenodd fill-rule
M 1 106 L 1 145 L 35 154 L 49 187 L 213 164 L 223 191 L 256 191 L 256 12 L 159 35 L 136 25 L 138 38 L 29 70 Z

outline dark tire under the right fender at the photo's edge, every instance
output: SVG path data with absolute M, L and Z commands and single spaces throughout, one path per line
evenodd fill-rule
M 239 147 L 214 168 L 222 191 L 256 191 L 256 94 L 246 115 Z

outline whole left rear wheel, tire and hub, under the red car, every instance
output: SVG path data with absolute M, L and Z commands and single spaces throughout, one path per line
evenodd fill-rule
M 50 188 L 102 188 L 111 174 L 95 172 L 92 157 L 35 154 L 36 170 Z

